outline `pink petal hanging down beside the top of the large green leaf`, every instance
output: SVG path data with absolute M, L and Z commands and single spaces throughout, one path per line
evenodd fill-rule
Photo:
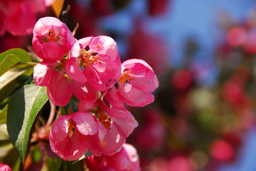
M 47 86 L 47 95 L 56 106 L 65 106 L 72 96 L 71 86 L 64 77 L 64 69 L 60 72 L 53 70 Z

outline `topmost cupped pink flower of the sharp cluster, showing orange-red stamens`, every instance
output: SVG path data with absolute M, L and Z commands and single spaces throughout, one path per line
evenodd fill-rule
M 75 41 L 66 24 L 54 17 L 39 19 L 33 29 L 32 46 L 45 61 L 61 60 Z

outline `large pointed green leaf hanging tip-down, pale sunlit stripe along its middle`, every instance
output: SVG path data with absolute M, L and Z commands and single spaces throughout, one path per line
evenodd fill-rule
M 46 87 L 25 85 L 15 91 L 7 108 L 7 131 L 24 164 L 29 133 L 39 110 L 48 100 Z

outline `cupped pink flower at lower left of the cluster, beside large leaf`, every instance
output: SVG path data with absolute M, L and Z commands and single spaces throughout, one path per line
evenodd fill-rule
M 77 160 L 88 150 L 88 137 L 98 137 L 102 141 L 105 134 L 103 125 L 90 113 L 64 115 L 51 126 L 51 150 L 64 160 Z

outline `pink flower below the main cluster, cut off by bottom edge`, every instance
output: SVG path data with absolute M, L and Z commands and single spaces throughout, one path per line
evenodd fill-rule
M 120 152 L 114 155 L 90 156 L 85 159 L 87 166 L 95 171 L 139 171 L 140 161 L 137 150 L 130 144 L 124 143 Z

